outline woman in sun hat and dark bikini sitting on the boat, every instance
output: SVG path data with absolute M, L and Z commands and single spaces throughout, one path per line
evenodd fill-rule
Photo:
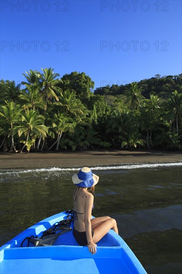
M 92 218 L 93 195 L 92 193 L 99 177 L 91 172 L 89 167 L 83 167 L 78 174 L 72 176 L 76 186 L 74 191 L 75 221 L 73 235 L 81 246 L 88 246 L 91 254 L 96 253 L 96 243 L 110 230 L 118 234 L 116 221 L 108 216 Z

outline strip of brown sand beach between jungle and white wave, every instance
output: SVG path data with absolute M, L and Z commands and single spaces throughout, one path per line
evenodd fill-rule
M 181 151 L 161 150 L 87 150 L 49 152 L 0 152 L 0 169 L 100 166 L 141 163 L 181 162 Z

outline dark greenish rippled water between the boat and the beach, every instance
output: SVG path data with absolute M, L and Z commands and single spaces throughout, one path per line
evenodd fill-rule
M 1 170 L 1 245 L 34 223 L 71 209 L 76 171 Z M 181 273 L 182 166 L 102 166 L 92 171 L 99 176 L 92 214 L 116 219 L 119 235 L 148 273 Z

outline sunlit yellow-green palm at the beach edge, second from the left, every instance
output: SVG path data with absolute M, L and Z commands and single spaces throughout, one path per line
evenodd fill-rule
M 25 113 L 22 113 L 21 123 L 17 127 L 18 136 L 20 137 L 23 133 L 26 135 L 26 140 L 24 145 L 22 146 L 20 153 L 23 151 L 25 147 L 29 135 L 34 134 L 42 134 L 46 136 L 47 127 L 43 125 L 44 116 L 37 113 L 37 111 L 27 109 Z

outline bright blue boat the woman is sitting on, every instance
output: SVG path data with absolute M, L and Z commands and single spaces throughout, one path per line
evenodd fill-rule
M 57 235 L 52 245 L 35 246 L 30 241 L 26 246 L 26 237 L 34 236 L 37 237 L 34 240 L 39 240 L 44 231 L 66 220 L 67 216 L 68 211 L 64 211 L 46 218 L 3 245 L 0 274 L 146 274 L 134 253 L 113 230 L 97 243 L 94 255 L 87 246 L 78 245 L 71 229 Z M 73 223 L 70 224 L 72 229 Z

